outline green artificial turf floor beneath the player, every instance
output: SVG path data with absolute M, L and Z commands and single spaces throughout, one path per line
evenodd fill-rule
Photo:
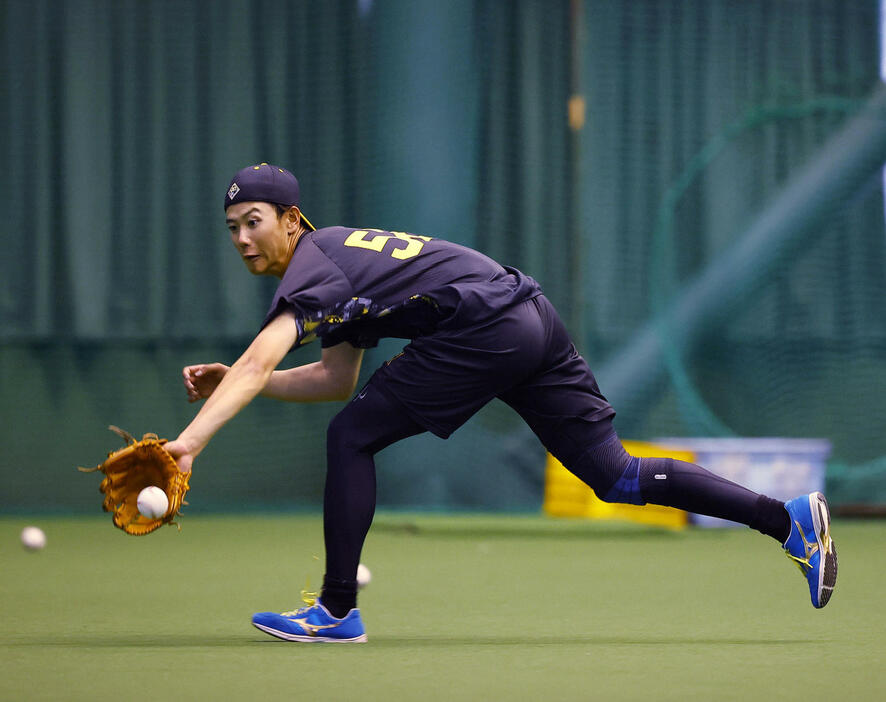
M 41 526 L 48 545 L 18 534 Z M 369 643 L 250 624 L 322 577 L 317 516 L 0 519 L 0 700 L 882 700 L 886 523 L 837 522 L 817 611 L 750 530 L 380 515 Z

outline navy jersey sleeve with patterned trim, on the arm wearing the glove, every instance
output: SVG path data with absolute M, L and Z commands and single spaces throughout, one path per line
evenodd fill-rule
M 286 269 L 277 286 L 262 328 L 282 311 L 291 309 L 298 326 L 295 345 L 302 346 L 316 338 L 317 328 L 350 301 L 354 291 L 347 276 L 312 238 L 299 242 L 297 259 Z

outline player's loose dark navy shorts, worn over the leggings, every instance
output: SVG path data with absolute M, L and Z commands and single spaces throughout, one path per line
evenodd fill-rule
M 564 463 L 602 440 L 601 420 L 615 414 L 543 295 L 481 324 L 416 339 L 369 387 L 444 439 L 499 398 Z

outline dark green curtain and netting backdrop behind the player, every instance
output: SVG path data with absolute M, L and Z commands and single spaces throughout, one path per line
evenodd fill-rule
M 0 473 L 18 476 L 0 509 L 40 504 L 47 488 L 19 471 L 45 437 L 64 437 L 47 457 L 56 476 L 101 452 L 105 424 L 175 432 L 193 411 L 178 368 L 245 346 L 273 281 L 243 272 L 219 193 L 262 160 L 298 174 L 318 225 L 443 236 L 536 277 L 623 436 L 827 438 L 849 486 L 835 494 L 886 501 L 876 168 L 816 203 L 819 221 L 725 318 L 691 343 L 665 334 L 665 372 L 636 397 L 619 378 L 646 370 L 616 373 L 632 340 L 661 328 L 663 307 L 858 114 L 878 83 L 877 11 L 875 0 L 0 0 Z M 567 122 L 574 92 L 580 130 Z M 398 348 L 369 354 L 365 374 Z M 262 403 L 238 418 L 210 449 L 220 477 L 204 504 L 316 505 L 334 410 Z M 445 444 L 420 437 L 382 454 L 380 497 L 536 508 L 542 465 L 535 438 L 493 404 Z M 263 478 L 244 497 L 256 466 Z M 67 478 L 48 489 L 52 505 L 85 507 Z

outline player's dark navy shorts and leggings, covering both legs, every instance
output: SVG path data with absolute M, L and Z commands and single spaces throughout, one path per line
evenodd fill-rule
M 483 323 L 415 339 L 332 420 L 324 498 L 329 588 L 348 590 L 356 577 L 375 511 L 375 453 L 424 431 L 446 438 L 494 398 L 513 407 L 601 499 L 680 507 L 786 538 L 780 502 L 690 463 L 629 456 L 612 426 L 615 411 L 556 310 L 538 296 Z

